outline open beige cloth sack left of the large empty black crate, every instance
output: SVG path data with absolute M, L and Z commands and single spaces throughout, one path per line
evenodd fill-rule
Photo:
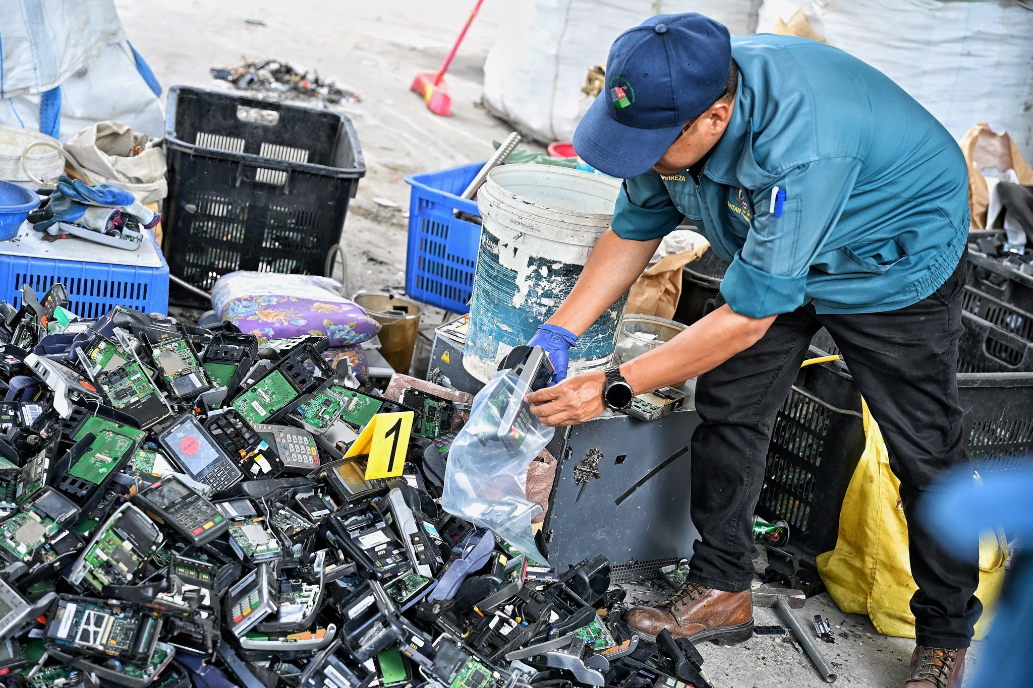
M 130 156 L 134 146 L 143 151 Z M 64 149 L 94 183 L 111 182 L 145 204 L 168 195 L 160 138 L 118 122 L 98 122 L 73 134 Z

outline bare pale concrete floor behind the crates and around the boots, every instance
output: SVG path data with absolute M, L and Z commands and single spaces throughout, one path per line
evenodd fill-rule
M 452 63 L 447 76 L 451 118 L 430 113 L 408 90 L 416 72 L 438 68 L 472 5 L 473 0 L 116 0 L 130 39 L 166 89 L 185 84 L 231 91 L 228 84 L 212 79 L 209 68 L 247 57 L 314 68 L 358 92 L 362 102 L 339 108 L 354 122 L 368 170 L 342 235 L 349 293 L 404 287 L 409 204 L 404 177 L 482 160 L 491 155 L 492 141 L 509 132 L 475 104 L 481 93 L 481 65 L 506 3 L 484 4 Z M 245 20 L 260 20 L 264 26 Z M 442 316 L 430 309 L 425 328 Z M 631 588 L 630 596 L 643 601 L 669 592 L 659 584 Z M 815 614 L 838 626 L 836 644 L 821 644 L 839 670 L 838 683 L 893 688 L 903 681 L 912 641 L 877 634 L 866 617 L 843 614 L 827 595 L 808 600 L 797 613 L 805 626 Z M 756 621 L 778 623 L 773 610 L 757 610 Z M 841 631 L 849 638 L 840 637 Z M 781 638 L 755 636 L 735 647 L 706 644 L 700 651 L 717 688 L 826 685 L 807 657 Z M 973 663 L 978 654 L 974 648 Z

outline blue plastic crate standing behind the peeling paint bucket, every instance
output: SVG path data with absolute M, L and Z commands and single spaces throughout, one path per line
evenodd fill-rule
M 476 201 L 459 194 L 483 165 L 476 162 L 405 177 L 412 187 L 405 291 L 417 301 L 457 314 L 470 309 L 480 225 L 457 220 L 452 210 L 480 215 Z

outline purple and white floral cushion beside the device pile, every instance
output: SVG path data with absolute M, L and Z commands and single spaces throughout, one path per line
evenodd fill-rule
M 308 274 L 224 274 L 212 289 L 212 307 L 260 340 L 316 334 L 330 337 L 332 347 L 345 347 L 380 331 L 377 321 L 344 297 L 340 284 Z

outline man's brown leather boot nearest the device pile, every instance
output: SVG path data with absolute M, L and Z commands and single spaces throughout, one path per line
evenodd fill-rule
M 659 607 L 630 610 L 624 621 L 650 641 L 666 628 L 692 643 L 731 645 L 753 635 L 753 600 L 749 590 L 723 592 L 686 583 Z

